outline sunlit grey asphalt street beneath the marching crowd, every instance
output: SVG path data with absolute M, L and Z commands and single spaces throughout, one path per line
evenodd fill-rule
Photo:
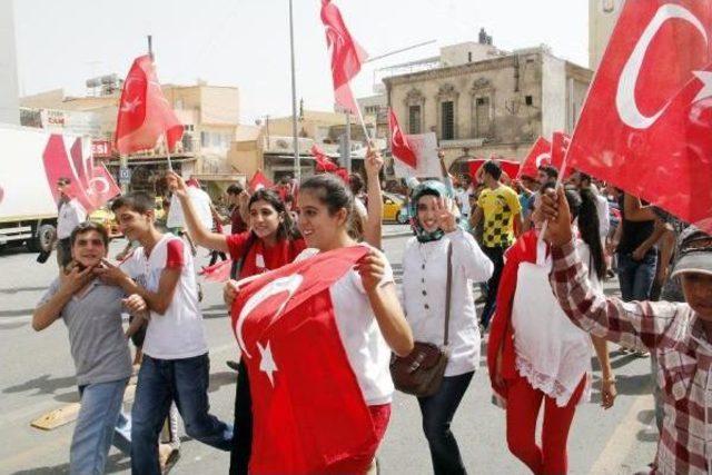
M 386 226 L 385 251 L 397 280 L 400 259 L 408 237 L 397 235 L 404 226 Z M 113 257 L 125 245 L 111 244 Z M 207 251 L 199 249 L 198 263 L 205 265 Z M 73 423 L 43 432 L 30 422 L 53 409 L 78 400 L 73 365 L 69 354 L 67 329 L 61 321 L 42 333 L 31 328 L 31 313 L 56 275 L 55 256 L 44 265 L 36 254 L 8 250 L 0 255 L 0 334 L 2 374 L 0 375 L 1 474 L 57 474 L 68 472 L 69 444 Z M 211 412 L 231 422 L 236 374 L 225 362 L 237 358 L 237 345 L 229 329 L 221 287 L 202 284 L 201 307 L 210 345 Z M 606 293 L 617 291 L 617 281 L 605 285 Z M 479 307 L 481 309 L 481 307 Z M 599 405 L 597 380 L 591 403 L 578 407 L 568 438 L 570 473 L 631 474 L 652 462 L 656 432 L 653 428 L 650 395 L 650 360 L 622 354 L 611 345 L 612 364 L 617 379 L 615 406 L 604 412 Z M 492 392 L 486 364 L 475 375 L 461 405 L 453 431 L 469 473 L 525 474 L 527 471 L 506 445 L 504 412 L 491 402 Z M 595 365 L 595 364 L 594 364 Z M 595 366 L 594 366 L 595 368 Z M 239 427 L 236 436 L 240 436 Z M 227 473 L 229 456 L 184 436 L 175 474 Z M 415 398 L 397 394 L 387 436 L 378 454 L 384 474 L 432 473 L 427 444 L 421 429 Z M 111 449 L 108 473 L 129 473 L 128 457 Z

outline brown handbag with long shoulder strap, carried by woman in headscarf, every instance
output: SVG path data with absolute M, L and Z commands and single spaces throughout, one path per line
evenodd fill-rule
M 415 342 L 408 356 L 393 355 L 390 377 L 396 389 L 418 397 L 432 396 L 438 392 L 449 359 L 449 303 L 453 279 L 453 245 L 447 244 L 447 281 L 445 287 L 445 337 L 443 345 Z

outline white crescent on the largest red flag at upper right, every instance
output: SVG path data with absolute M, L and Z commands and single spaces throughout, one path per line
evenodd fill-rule
M 662 26 L 668 20 L 673 19 L 689 22 L 698 29 L 704 38 L 704 41 L 708 41 L 708 33 L 704 29 L 704 24 L 702 24 L 700 19 L 686 8 L 679 4 L 665 3 L 657 9 L 655 16 L 647 27 L 645 27 L 643 34 L 641 34 L 633 52 L 623 67 L 623 71 L 619 79 L 617 93 L 615 95 L 615 106 L 621 120 L 633 129 L 647 129 L 650 126 L 655 123 L 660 116 L 663 115 L 670 103 L 668 102 L 652 116 L 644 116 L 635 101 L 635 86 L 637 85 L 637 77 L 641 72 L 647 48 Z

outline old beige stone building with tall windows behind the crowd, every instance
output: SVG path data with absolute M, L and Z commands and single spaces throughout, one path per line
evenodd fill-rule
M 384 78 L 400 127 L 434 131 L 448 166 L 522 159 L 538 136 L 571 132 L 592 80 L 591 70 L 544 46 L 504 52 L 483 33 L 477 43 L 444 48 L 423 70 Z

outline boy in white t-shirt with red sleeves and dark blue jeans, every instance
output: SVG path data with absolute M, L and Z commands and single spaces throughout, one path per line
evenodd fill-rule
M 158 435 L 174 400 L 188 435 L 205 444 L 229 451 L 233 427 L 208 413 L 210 360 L 190 249 L 156 229 L 146 194 L 122 196 L 111 210 L 140 247 L 120 267 L 107 265 L 102 278 L 140 295 L 150 308 L 131 412 L 131 472 L 160 474 Z

